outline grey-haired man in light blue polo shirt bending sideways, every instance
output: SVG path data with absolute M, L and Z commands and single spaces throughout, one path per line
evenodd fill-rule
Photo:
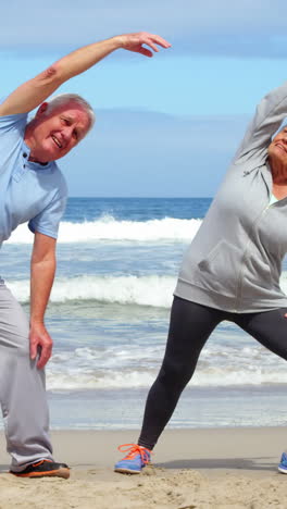
M 32 254 L 30 322 L 0 281 L 0 398 L 11 473 L 67 479 L 55 463 L 48 435 L 43 367 L 52 351 L 43 315 L 55 271 L 55 241 L 66 185 L 55 160 L 91 128 L 90 105 L 76 95 L 46 102 L 60 85 L 120 48 L 152 57 L 170 45 L 148 33 L 128 34 L 83 47 L 21 85 L 0 104 L 0 243 L 21 223 L 35 234 Z M 38 107 L 27 123 L 27 113 Z

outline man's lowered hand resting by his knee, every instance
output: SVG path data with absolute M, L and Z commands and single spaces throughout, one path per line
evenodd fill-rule
M 30 359 L 39 356 L 37 368 L 42 370 L 52 355 L 53 342 L 43 323 L 34 323 L 29 332 Z

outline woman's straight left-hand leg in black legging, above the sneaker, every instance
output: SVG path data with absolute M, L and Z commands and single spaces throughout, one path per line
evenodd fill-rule
M 175 297 L 165 356 L 146 404 L 140 446 L 151 450 L 157 444 L 195 372 L 202 347 L 224 318 L 223 311 Z

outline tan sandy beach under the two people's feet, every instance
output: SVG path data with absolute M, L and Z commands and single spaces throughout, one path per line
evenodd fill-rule
M 287 508 L 287 475 L 277 473 L 287 446 L 284 427 L 167 430 L 141 475 L 113 472 L 118 444 L 135 431 L 53 432 L 54 457 L 68 481 L 22 480 L 7 473 L 1 443 L 0 508 L 262 509 Z

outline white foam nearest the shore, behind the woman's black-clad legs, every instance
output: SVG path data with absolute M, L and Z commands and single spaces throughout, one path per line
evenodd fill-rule
M 124 339 L 123 339 L 124 343 Z M 242 342 L 241 342 L 242 343 Z M 246 346 L 230 338 L 223 347 L 219 338 L 202 352 L 190 386 L 245 386 L 286 384 L 286 362 L 271 355 L 253 339 Z M 161 365 L 164 344 L 127 344 L 83 347 L 53 356 L 47 369 L 51 390 L 145 388 Z M 225 350 L 225 355 L 223 355 Z M 248 362 L 247 362 L 248 360 Z

